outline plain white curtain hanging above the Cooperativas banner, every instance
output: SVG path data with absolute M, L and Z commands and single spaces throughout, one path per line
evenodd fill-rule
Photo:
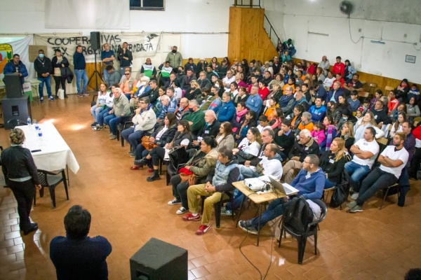
M 46 28 L 129 29 L 129 1 L 46 0 Z

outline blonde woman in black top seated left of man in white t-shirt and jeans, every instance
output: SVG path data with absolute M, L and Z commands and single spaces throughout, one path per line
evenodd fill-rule
M 345 168 L 344 139 L 339 137 L 333 139 L 330 150 L 321 155 L 319 167 L 326 175 L 324 188 L 332 188 L 339 183 L 340 176 Z

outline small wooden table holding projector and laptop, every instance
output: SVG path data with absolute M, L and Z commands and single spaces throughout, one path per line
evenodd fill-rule
M 244 181 L 235 182 L 235 183 L 232 183 L 232 185 L 235 188 L 237 188 L 241 193 L 243 193 L 243 199 L 241 200 L 241 206 L 240 206 L 239 216 L 237 218 L 236 225 L 235 225 L 236 227 L 239 224 L 241 210 L 243 209 L 244 197 L 250 198 L 250 200 L 252 202 L 254 202 L 255 204 L 258 204 L 259 205 L 259 223 L 258 223 L 258 246 L 259 246 L 259 239 L 260 239 L 260 216 L 262 216 L 262 204 L 264 202 L 270 202 L 272 200 L 276 200 L 277 198 L 286 197 L 286 195 L 284 195 L 283 193 L 280 193 L 278 190 L 274 190 L 274 191 L 272 191 L 272 193 L 263 193 L 263 194 L 259 195 L 255 191 L 250 190 L 250 188 L 248 188 L 248 186 L 246 186 L 244 184 Z

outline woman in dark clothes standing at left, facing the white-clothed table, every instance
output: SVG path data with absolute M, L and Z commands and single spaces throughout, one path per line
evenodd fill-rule
M 10 137 L 11 147 L 1 153 L 1 169 L 6 185 L 11 188 L 18 202 L 20 230 L 23 230 L 24 235 L 28 235 L 29 232 L 38 229 L 37 223 L 29 221 L 29 214 L 32 201 L 34 201 L 35 188 L 40 190 L 41 185 L 31 152 L 22 147 L 25 134 L 19 128 L 15 128 Z

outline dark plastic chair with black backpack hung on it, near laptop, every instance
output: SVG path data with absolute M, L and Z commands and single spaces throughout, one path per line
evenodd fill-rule
M 319 205 L 321 208 L 321 216 L 318 220 L 313 221 L 307 225 L 307 230 L 305 232 L 299 233 L 294 232 L 293 228 L 289 228 L 286 225 L 281 225 L 281 236 L 279 237 L 278 247 L 281 247 L 282 234 L 283 232 L 288 232 L 291 237 L 295 237 L 298 241 L 298 264 L 302 265 L 302 258 L 304 257 L 305 245 L 307 244 L 307 237 L 314 235 L 314 255 L 317 255 L 317 231 L 319 230 L 319 223 L 321 223 L 325 218 L 328 212 L 326 204 L 321 200 L 313 200 L 314 203 Z M 282 220 L 281 220 L 282 222 Z

